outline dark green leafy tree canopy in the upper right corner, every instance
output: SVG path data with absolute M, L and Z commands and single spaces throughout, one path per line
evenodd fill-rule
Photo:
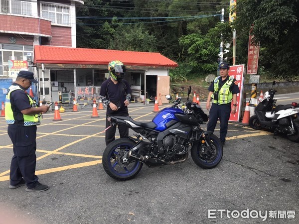
M 263 49 L 259 66 L 281 79 L 299 76 L 299 0 L 239 0 L 236 28 Z

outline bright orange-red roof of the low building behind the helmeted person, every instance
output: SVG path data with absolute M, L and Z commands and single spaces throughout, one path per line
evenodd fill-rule
M 108 65 L 120 60 L 125 65 L 177 67 L 160 53 L 89 48 L 34 46 L 34 63 Z

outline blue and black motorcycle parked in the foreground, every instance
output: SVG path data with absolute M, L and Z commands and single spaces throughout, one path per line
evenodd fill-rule
M 119 138 L 104 150 L 102 162 L 106 173 L 116 180 L 130 180 L 148 166 L 185 162 L 190 152 L 196 165 L 211 169 L 222 159 L 223 148 L 219 138 L 204 131 L 200 124 L 208 120 L 201 107 L 189 101 L 158 112 L 150 122 L 138 122 L 130 116 L 111 116 L 111 124 L 124 124 L 137 132 L 136 137 Z M 167 100 L 172 97 L 166 96 Z

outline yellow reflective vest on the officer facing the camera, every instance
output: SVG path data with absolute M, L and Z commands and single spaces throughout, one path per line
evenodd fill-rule
M 233 94 L 230 91 L 230 87 L 234 82 L 233 77 L 229 77 L 225 84 L 219 90 L 219 80 L 221 76 L 218 76 L 214 80 L 214 93 L 212 94 L 211 98 L 213 99 L 213 104 L 228 104 L 233 100 Z M 214 97 L 215 93 L 218 93 L 218 99 Z

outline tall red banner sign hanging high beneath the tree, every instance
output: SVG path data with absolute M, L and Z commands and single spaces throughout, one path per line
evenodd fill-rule
M 253 37 L 254 35 L 251 35 L 250 32 L 248 41 L 247 74 L 258 73 L 260 44 L 254 44 L 252 42 Z

